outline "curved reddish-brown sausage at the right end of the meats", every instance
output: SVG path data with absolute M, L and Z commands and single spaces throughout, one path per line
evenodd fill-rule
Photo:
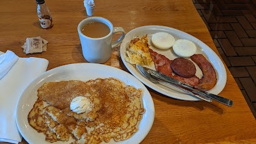
M 191 56 L 191 60 L 200 67 L 203 73 L 203 77 L 199 80 L 196 87 L 204 91 L 211 90 L 217 83 L 216 72 L 211 63 L 202 54 L 194 54 Z

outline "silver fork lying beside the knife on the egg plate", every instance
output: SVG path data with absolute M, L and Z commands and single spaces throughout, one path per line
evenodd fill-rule
M 184 88 L 181 88 L 175 84 L 172 84 L 172 83 L 168 83 L 166 81 L 162 81 L 160 79 L 157 79 L 155 77 L 152 77 L 150 74 L 148 74 L 148 72 L 141 66 L 141 65 L 136 65 L 136 68 L 137 70 L 140 72 L 140 74 L 145 77 L 146 79 L 148 79 L 148 81 L 151 81 L 152 83 L 166 83 L 166 84 L 169 84 L 170 86 L 173 86 L 175 88 L 178 88 L 179 90 L 182 90 L 186 93 L 188 93 L 189 95 L 193 95 L 194 97 L 198 97 L 199 99 L 202 99 L 202 100 L 205 100 L 207 102 L 212 102 L 212 99 L 209 98 L 209 97 L 205 97 L 203 95 L 195 95 L 194 93 L 190 92 L 189 90 L 186 90 Z

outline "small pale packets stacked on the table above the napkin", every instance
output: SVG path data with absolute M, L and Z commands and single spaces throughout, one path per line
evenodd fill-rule
M 44 40 L 44 38 L 37 36 L 33 38 L 26 38 L 26 42 L 21 47 L 23 48 L 24 53 L 32 54 L 46 51 L 47 43 L 47 40 Z

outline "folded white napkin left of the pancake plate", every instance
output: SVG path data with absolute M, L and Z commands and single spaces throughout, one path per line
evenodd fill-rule
M 0 52 L 0 55 L 1 53 L 3 52 Z M 7 61 L 13 63 L 17 58 L 11 51 L 5 54 L 0 56 L 4 58 L 0 61 L 0 70 L 8 69 L 7 66 L 10 65 L 6 65 Z M 24 88 L 47 70 L 48 63 L 49 61 L 44 58 L 18 57 L 8 72 L 3 73 L 4 76 L 0 79 L 0 142 L 19 143 L 22 140 L 15 122 L 17 101 Z

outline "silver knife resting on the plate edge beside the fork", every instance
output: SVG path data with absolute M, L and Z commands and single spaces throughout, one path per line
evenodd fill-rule
M 212 99 L 214 99 L 218 102 L 221 102 L 222 104 L 225 104 L 227 106 L 232 106 L 233 105 L 233 101 L 230 100 L 230 99 L 227 99 L 225 97 L 221 97 L 220 95 L 214 95 L 214 94 L 209 93 L 209 92 L 202 92 L 199 89 L 197 89 L 197 88 L 195 88 L 195 87 L 193 87 L 189 84 L 178 81 L 177 79 L 173 79 L 172 77 L 166 76 L 165 74 L 162 74 L 161 72 L 158 72 L 156 70 L 152 70 L 150 68 L 145 68 L 145 69 L 147 70 L 147 72 L 151 76 L 157 77 L 158 79 L 161 79 L 163 81 L 167 81 L 169 83 L 177 84 L 179 86 L 182 86 L 183 88 L 188 88 L 188 90 L 191 90 L 191 92 L 193 92 L 193 93 L 196 93 L 198 95 L 204 95 L 206 97 L 210 97 L 210 98 L 212 98 Z

